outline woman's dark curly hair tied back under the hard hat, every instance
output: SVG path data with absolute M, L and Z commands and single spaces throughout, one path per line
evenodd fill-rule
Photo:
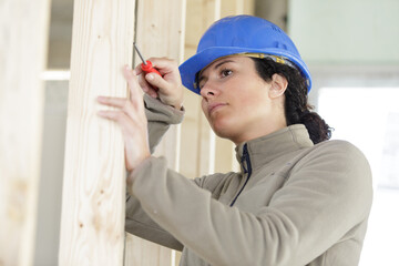
M 257 59 L 255 61 L 257 73 L 266 82 L 272 81 L 273 74 L 280 74 L 288 81 L 285 91 L 285 116 L 287 125 L 304 124 L 314 144 L 329 140 L 332 129 L 318 115 L 308 103 L 305 78 L 297 69 L 287 64 L 276 63 L 272 59 Z

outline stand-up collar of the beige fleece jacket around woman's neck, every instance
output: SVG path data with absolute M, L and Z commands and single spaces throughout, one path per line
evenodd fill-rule
M 273 132 L 268 135 L 241 143 L 236 146 L 236 158 L 243 171 L 243 153 L 245 150 L 249 155 L 250 164 L 254 170 L 272 162 L 273 160 L 303 147 L 313 146 L 308 131 L 303 124 L 294 124 Z M 244 167 L 245 168 L 245 167 Z

